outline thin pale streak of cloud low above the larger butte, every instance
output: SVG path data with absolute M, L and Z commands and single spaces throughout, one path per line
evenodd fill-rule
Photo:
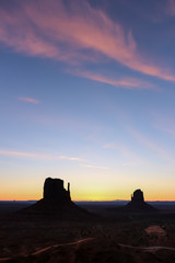
M 56 156 L 56 155 L 43 155 L 43 153 L 25 152 L 25 151 L 0 150 L 0 155 L 1 156 L 9 156 L 9 157 L 43 159 L 43 160 L 65 159 L 67 161 L 85 162 L 84 159 L 77 158 L 77 157 L 66 157 L 66 156 Z

